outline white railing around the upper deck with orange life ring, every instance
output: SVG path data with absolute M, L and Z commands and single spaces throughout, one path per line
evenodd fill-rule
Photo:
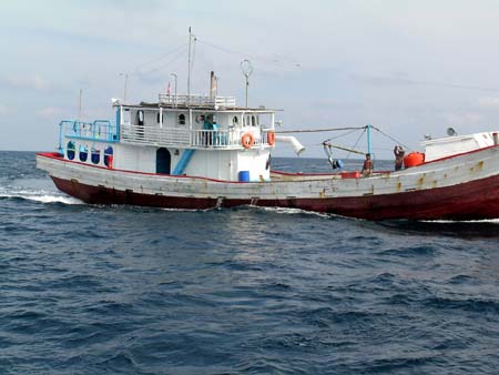
M 271 130 L 228 129 L 228 130 L 189 130 L 175 128 L 139 126 L 122 124 L 121 140 L 126 143 L 156 146 L 177 146 L 191 149 L 243 149 L 243 134 L 253 135 L 253 148 L 268 145 L 267 133 Z

